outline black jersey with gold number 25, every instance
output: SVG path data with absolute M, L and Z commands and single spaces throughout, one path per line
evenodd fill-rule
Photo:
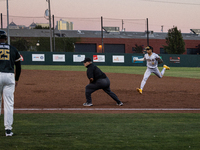
M 0 72 L 14 73 L 15 62 L 20 60 L 21 56 L 15 47 L 0 43 Z

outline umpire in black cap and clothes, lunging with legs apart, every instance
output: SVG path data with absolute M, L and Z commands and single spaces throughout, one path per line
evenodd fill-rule
M 118 99 L 117 95 L 110 90 L 110 80 L 97 66 L 92 63 L 90 58 L 85 58 L 84 66 L 87 68 L 87 77 L 90 83 L 85 87 L 85 96 L 87 102 L 83 106 L 93 106 L 91 94 L 99 89 L 103 89 L 110 97 L 112 97 L 118 106 L 123 103 Z

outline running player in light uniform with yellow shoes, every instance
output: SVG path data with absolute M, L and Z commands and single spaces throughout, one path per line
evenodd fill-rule
M 136 90 L 142 94 L 142 90 L 146 84 L 147 79 L 149 78 L 149 76 L 151 75 L 151 73 L 154 73 L 157 77 L 162 78 L 165 70 L 170 70 L 170 68 L 166 65 L 163 65 L 163 69 L 160 72 L 158 69 L 158 61 L 161 60 L 160 56 L 158 56 L 158 54 L 153 52 L 153 47 L 151 46 L 147 46 L 145 48 L 145 50 L 147 51 L 147 53 L 144 55 L 143 58 L 141 59 L 135 59 L 135 61 L 145 61 L 147 62 L 147 70 L 144 73 L 144 77 L 142 79 L 140 88 L 137 88 Z

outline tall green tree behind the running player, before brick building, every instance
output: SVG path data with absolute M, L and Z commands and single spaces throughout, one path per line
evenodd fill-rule
M 169 29 L 165 39 L 167 46 L 163 47 L 168 54 L 183 54 L 185 52 L 185 42 L 177 27 Z

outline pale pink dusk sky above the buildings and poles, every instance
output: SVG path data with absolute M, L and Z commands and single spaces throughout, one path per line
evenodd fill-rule
M 32 22 L 48 23 L 44 12 L 46 0 L 8 0 L 9 22 L 29 26 Z M 51 0 L 51 14 L 55 22 L 66 19 L 74 23 L 74 30 L 100 30 L 101 16 L 104 26 L 116 26 L 126 31 L 149 30 L 167 32 L 177 26 L 182 33 L 200 29 L 199 0 Z M 6 0 L 0 0 L 3 27 L 7 27 Z

